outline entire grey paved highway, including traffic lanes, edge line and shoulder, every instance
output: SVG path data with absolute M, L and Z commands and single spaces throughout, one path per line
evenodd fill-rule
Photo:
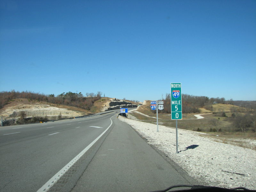
M 150 191 L 197 184 L 116 115 L 1 128 L 0 191 Z

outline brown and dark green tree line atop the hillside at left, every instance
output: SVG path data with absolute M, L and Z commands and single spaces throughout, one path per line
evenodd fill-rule
M 5 105 L 10 103 L 10 101 L 14 99 L 24 98 L 29 100 L 45 101 L 52 104 L 68 105 L 90 110 L 93 106 L 93 103 L 99 100 L 101 96 L 102 92 L 100 91 L 98 91 L 96 94 L 86 93 L 86 97 L 84 97 L 84 95 L 81 92 L 63 92 L 55 97 L 54 94 L 45 95 L 42 93 L 34 93 L 28 91 L 19 92 L 12 90 L 9 92 L 0 92 L 0 108 L 3 108 Z

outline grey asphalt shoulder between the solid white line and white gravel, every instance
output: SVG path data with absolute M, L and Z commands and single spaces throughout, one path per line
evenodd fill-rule
M 172 185 L 198 184 L 148 145 L 130 125 L 116 118 L 113 122 L 115 126 L 72 192 L 154 191 Z

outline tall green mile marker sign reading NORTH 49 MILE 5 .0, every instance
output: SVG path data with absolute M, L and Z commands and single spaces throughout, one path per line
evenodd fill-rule
M 171 83 L 171 113 L 172 120 L 182 119 L 181 83 Z

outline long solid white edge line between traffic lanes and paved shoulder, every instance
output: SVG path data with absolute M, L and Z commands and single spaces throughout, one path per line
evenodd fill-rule
M 80 159 L 81 156 L 84 155 L 84 153 L 92 147 L 92 145 L 100 139 L 100 137 L 108 131 L 109 127 L 112 125 L 112 117 L 110 117 L 111 124 L 108 126 L 108 128 L 102 132 L 95 140 L 93 140 L 86 148 L 84 148 L 83 151 L 81 151 L 77 156 L 75 156 L 74 159 L 72 159 L 68 164 L 66 164 L 59 172 L 57 172 L 49 181 L 47 181 L 40 189 L 37 190 L 37 192 L 46 192 L 48 191 L 59 179 L 62 175 L 64 175 L 65 172 L 68 171 L 68 169 L 76 163 L 78 159 Z

